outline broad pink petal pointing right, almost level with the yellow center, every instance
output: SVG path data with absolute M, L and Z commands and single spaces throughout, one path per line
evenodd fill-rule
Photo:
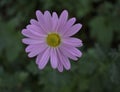
M 73 38 L 73 37 L 64 38 L 63 43 L 74 46 L 74 47 L 81 47 L 83 45 L 80 39 Z

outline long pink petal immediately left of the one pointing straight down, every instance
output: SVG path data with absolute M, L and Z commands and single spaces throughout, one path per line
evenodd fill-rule
M 42 57 L 39 59 L 39 62 L 38 62 L 39 69 L 43 69 L 46 66 L 46 64 L 48 63 L 49 57 L 50 57 L 50 48 L 47 48 L 45 52 L 42 54 Z

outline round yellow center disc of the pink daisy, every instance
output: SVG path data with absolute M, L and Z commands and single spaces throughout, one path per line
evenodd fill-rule
M 46 42 L 51 47 L 57 47 L 60 45 L 61 39 L 60 36 L 56 33 L 50 33 L 46 37 Z

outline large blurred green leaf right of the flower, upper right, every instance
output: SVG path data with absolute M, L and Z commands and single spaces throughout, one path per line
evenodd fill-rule
M 113 29 L 104 16 L 97 16 L 90 22 L 91 37 L 104 47 L 109 47 L 113 38 Z

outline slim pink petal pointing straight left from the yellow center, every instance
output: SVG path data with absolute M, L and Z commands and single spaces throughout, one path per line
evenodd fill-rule
M 37 39 L 24 38 L 24 39 L 22 39 L 22 42 L 24 44 L 39 44 L 39 43 L 43 43 L 44 40 L 43 39 L 37 40 Z

